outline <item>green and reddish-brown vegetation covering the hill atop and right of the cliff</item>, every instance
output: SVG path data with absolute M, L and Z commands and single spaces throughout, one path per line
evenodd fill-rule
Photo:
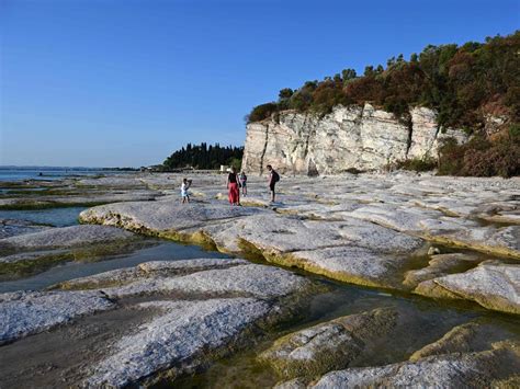
M 402 169 L 438 168 L 440 174 L 451 175 L 520 174 L 520 31 L 488 37 L 485 43 L 429 45 L 408 60 L 399 55 L 388 59 L 386 67 L 368 66 L 361 77 L 344 69 L 294 91 L 285 88 L 276 102 L 253 107 L 246 119 L 276 118 L 284 110 L 325 115 L 338 104 L 365 102 L 407 124 L 410 106 L 428 106 L 438 111 L 442 127 L 473 134 L 466 145 L 448 140 L 440 149 L 440 161 L 403 161 Z M 506 118 L 490 137 L 484 130 L 489 115 Z

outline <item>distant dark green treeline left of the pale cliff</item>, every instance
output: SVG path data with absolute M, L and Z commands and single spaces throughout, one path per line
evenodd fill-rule
M 222 147 L 219 144 L 201 145 L 188 144 L 168 157 L 162 165 L 166 169 L 194 168 L 219 169 L 221 164 L 240 168 L 244 147 Z

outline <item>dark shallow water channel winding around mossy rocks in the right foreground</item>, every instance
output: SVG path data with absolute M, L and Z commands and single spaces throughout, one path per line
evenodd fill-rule
M 389 294 L 331 282 L 307 275 L 327 284 L 331 290 L 310 298 L 302 317 L 268 333 L 252 347 L 214 363 L 207 370 L 176 380 L 159 380 L 152 388 L 268 388 L 283 381 L 258 355 L 281 336 L 342 316 L 376 308 L 395 307 L 406 318 L 406 325 L 354 359 L 349 367 L 383 366 L 407 361 L 425 345 L 442 337 L 453 327 L 476 320 L 493 324 L 508 337 L 520 340 L 520 319 L 487 311 L 476 305 L 434 301 L 411 295 Z

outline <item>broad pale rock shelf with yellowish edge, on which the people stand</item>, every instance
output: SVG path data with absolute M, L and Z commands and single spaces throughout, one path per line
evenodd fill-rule
M 250 181 L 246 207 L 229 207 L 204 181 L 197 192 L 207 199 L 202 203 L 181 205 L 165 198 L 108 204 L 83 211 L 80 218 L 207 243 L 226 253 L 253 254 L 352 284 L 466 299 L 517 312 L 520 226 L 515 218 L 508 219 L 509 225 L 490 220 L 518 210 L 518 179 L 408 173 L 284 176 L 280 203 L 270 207 L 262 205 L 267 204 L 262 182 Z M 452 255 L 432 258 L 427 254 L 431 245 Z M 466 252 L 452 253 L 445 247 Z M 505 267 L 477 267 L 490 259 Z M 491 279 L 496 283 L 489 285 L 495 286 L 488 285 Z M 510 287 L 499 287 L 502 282 Z M 488 291 L 495 297 L 483 298 Z

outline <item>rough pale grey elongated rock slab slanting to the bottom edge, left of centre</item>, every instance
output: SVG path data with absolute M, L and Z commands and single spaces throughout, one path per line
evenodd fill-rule
M 271 307 L 251 298 L 233 298 L 152 301 L 136 309 L 162 312 L 111 347 L 110 355 L 92 366 L 88 387 L 122 387 L 163 369 L 173 378 L 193 371 L 208 354 L 231 347 Z

